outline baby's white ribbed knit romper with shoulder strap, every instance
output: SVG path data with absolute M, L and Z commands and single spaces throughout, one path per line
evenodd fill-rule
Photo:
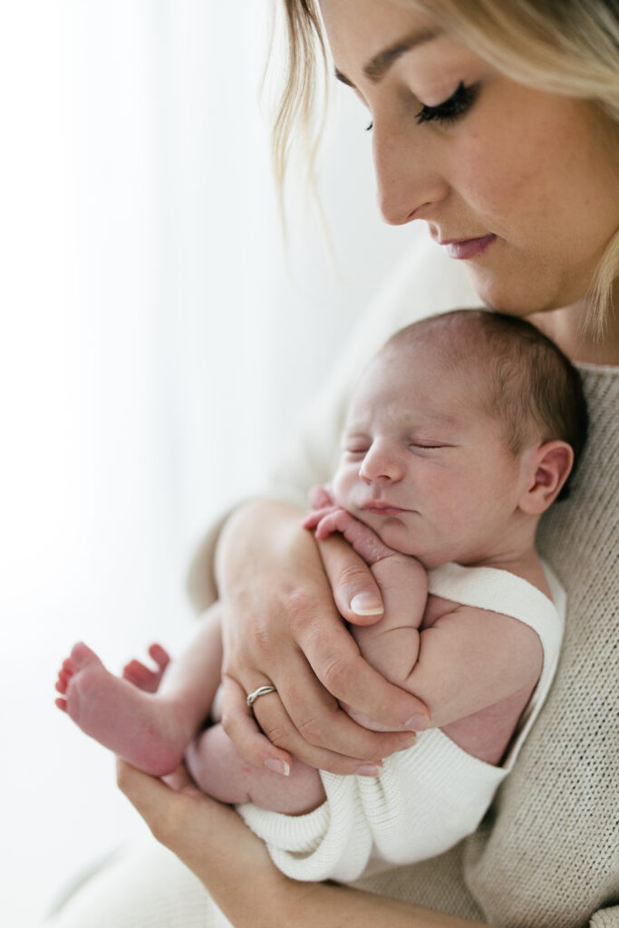
M 507 776 L 544 702 L 563 635 L 565 596 L 547 567 L 555 604 L 508 571 L 444 564 L 432 570 L 435 596 L 530 625 L 539 635 L 544 664 L 509 763 L 493 767 L 467 754 L 434 728 L 407 751 L 384 762 L 379 777 L 339 777 L 321 771 L 327 799 L 314 812 L 286 816 L 253 806 L 239 813 L 261 837 L 277 867 L 295 880 L 357 880 L 372 870 L 435 857 L 475 831 Z

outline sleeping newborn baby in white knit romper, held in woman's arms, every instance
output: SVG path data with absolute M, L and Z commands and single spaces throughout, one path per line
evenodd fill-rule
M 221 676 L 216 607 L 157 692 L 161 674 L 134 662 L 113 677 L 76 645 L 58 705 L 149 773 L 185 756 L 295 879 L 352 881 L 441 853 L 477 827 L 548 693 L 564 597 L 535 529 L 566 492 L 586 432 L 574 367 L 511 316 L 423 320 L 369 365 L 305 524 L 318 537 L 341 532 L 368 562 L 384 615 L 350 630 L 368 663 L 431 713 L 432 728 L 377 777 L 294 760 L 284 778 L 244 763 L 221 726 L 200 732 Z M 152 653 L 162 670 L 165 653 Z

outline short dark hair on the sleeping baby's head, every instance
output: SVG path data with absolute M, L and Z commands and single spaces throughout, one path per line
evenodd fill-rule
M 503 422 L 513 454 L 530 437 L 532 420 L 543 441 L 571 445 L 574 466 L 557 496 L 565 499 L 587 441 L 588 417 L 580 374 L 561 349 L 525 319 L 477 309 L 421 319 L 387 344 L 410 337 L 432 339 L 450 369 L 466 366 L 471 399 Z M 472 364 L 483 375 L 481 389 L 471 379 Z

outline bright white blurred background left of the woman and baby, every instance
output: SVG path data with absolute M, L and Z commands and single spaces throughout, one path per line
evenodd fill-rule
M 336 274 L 285 266 L 257 105 L 267 0 L 0 0 L 0 906 L 33 925 L 143 826 L 53 705 L 187 632 L 200 532 L 260 485 L 404 251 L 348 92 L 323 172 Z

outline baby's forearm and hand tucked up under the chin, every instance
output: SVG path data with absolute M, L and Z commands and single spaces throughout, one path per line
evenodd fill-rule
M 338 506 L 310 512 L 303 521 L 317 538 L 341 532 L 380 587 L 384 616 L 374 625 L 351 625 L 359 651 L 376 670 L 402 686 L 417 664 L 419 625 L 428 598 L 428 580 L 416 558 L 389 548 L 379 535 Z M 364 723 L 366 724 L 366 723 Z

